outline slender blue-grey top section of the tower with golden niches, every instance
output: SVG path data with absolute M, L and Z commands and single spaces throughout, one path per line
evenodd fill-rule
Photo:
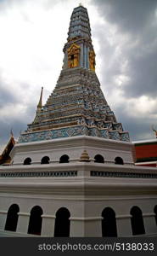
M 87 9 L 76 7 L 70 17 L 67 43 L 64 44 L 64 70 L 85 68 L 95 72 L 95 53 Z

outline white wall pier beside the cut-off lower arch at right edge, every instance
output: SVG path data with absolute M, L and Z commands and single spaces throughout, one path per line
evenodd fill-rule
M 146 235 L 157 233 L 157 225 L 155 221 L 154 212 L 143 213 L 143 224 L 144 224 Z

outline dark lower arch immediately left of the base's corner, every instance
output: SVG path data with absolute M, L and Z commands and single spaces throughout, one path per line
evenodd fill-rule
M 54 236 L 70 236 L 70 212 L 67 208 L 59 208 L 59 210 L 56 212 Z

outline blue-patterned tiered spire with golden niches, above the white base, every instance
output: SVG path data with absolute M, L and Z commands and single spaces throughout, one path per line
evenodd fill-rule
M 68 35 L 57 84 L 43 107 L 40 98 L 36 117 L 21 134 L 19 143 L 81 135 L 129 141 L 129 134 L 109 108 L 95 73 L 86 8 L 73 10 Z

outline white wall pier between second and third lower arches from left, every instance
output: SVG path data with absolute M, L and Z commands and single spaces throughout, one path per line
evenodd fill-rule
M 54 236 L 55 216 L 42 214 L 42 234 L 41 236 Z

